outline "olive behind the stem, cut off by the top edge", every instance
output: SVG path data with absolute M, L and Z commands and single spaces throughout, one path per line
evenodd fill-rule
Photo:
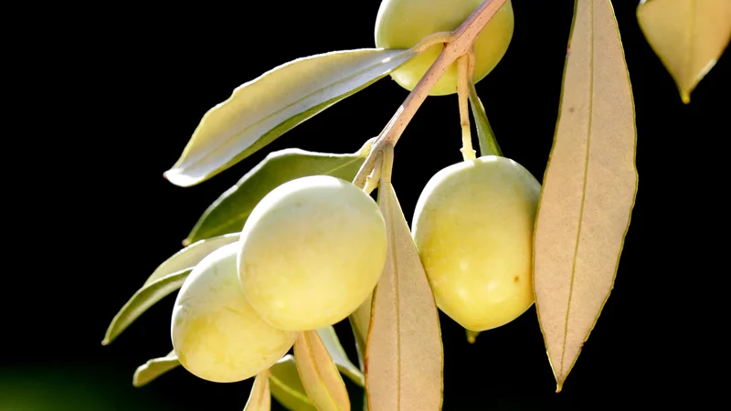
M 383 0 L 376 16 L 376 47 L 408 48 L 423 37 L 451 31 L 471 15 L 483 0 Z M 513 37 L 513 5 L 505 2 L 487 23 L 474 42 L 474 82 L 487 76 L 503 58 Z M 413 90 L 429 66 L 439 56 L 443 45 L 424 50 L 391 77 L 406 90 Z M 443 96 L 457 92 L 457 66 L 452 64 L 429 92 Z

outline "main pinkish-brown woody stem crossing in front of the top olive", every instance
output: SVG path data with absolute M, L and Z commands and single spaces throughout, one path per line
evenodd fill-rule
M 495 13 L 505 4 L 507 0 L 485 0 L 479 5 L 472 14 L 467 17 L 462 24 L 451 32 L 449 41 L 445 42 L 440 55 L 431 64 L 424 76 L 418 80 L 416 87 L 408 93 L 406 100 L 398 107 L 398 110 L 387 122 L 383 131 L 378 134 L 376 142 L 373 143 L 373 149 L 365 162 L 361 165 L 358 174 L 355 175 L 353 184 L 358 187 L 365 185 L 365 179 L 373 170 L 376 163 L 377 153 L 383 151 L 387 146 L 391 149 L 396 145 L 401 134 L 406 129 L 408 122 L 414 118 L 414 114 L 418 111 L 421 103 L 427 99 L 429 91 L 441 79 L 441 76 L 450 68 L 451 64 L 457 58 L 465 53 L 469 53 L 474 44 L 474 39 L 480 34 L 482 28 L 490 21 Z M 386 169 L 386 167 L 384 167 Z M 390 177 L 390 174 L 388 175 Z M 384 175 L 381 175 L 384 178 Z

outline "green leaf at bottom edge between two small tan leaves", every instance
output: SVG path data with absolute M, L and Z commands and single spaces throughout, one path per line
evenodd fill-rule
M 290 411 L 317 411 L 302 386 L 294 357 L 287 354 L 270 368 L 271 395 Z

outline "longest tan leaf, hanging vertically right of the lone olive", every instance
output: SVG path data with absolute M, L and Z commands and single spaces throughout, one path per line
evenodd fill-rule
M 575 7 L 535 222 L 535 305 L 557 392 L 613 288 L 638 178 L 634 102 L 612 5 Z

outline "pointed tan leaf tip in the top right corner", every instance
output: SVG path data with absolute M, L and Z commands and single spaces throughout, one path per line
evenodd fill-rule
M 681 100 L 689 103 L 731 40 L 731 1 L 641 0 L 637 21 L 673 76 Z

